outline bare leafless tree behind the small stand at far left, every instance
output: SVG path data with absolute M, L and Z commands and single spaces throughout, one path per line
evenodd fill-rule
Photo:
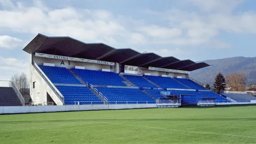
M 28 77 L 25 73 L 21 75 L 15 74 L 11 77 L 11 80 L 15 83 L 22 95 L 25 95 L 26 89 L 29 87 Z

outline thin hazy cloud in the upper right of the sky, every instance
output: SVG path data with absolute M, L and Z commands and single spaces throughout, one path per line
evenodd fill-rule
M 153 17 L 168 20 L 170 28 L 182 31 L 181 36 L 174 36 L 169 39 L 161 38 L 153 42 L 177 46 L 207 46 L 209 48 L 214 47 L 214 49 L 231 48 L 233 44 L 218 39 L 222 32 L 256 35 L 256 13 L 233 12 L 242 2 L 240 0 L 187 0 L 181 2 L 199 7 L 203 12 L 177 8 L 166 11 L 147 10 L 146 13 Z

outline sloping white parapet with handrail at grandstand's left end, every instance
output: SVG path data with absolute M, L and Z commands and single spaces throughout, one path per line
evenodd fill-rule
M 50 79 L 44 74 L 43 70 L 38 67 L 38 65 L 34 62 L 34 68 L 37 70 L 37 72 L 43 77 L 44 81 L 51 87 L 53 92 L 57 95 L 57 97 L 60 99 L 60 101 L 64 104 L 64 97 L 60 93 L 60 91 L 54 86 L 54 84 L 50 81 Z

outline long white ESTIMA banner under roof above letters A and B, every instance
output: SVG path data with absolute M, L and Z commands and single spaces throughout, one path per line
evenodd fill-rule
M 89 63 L 98 63 L 100 65 L 110 65 L 114 66 L 115 62 L 109 62 L 109 61 L 101 61 L 101 60 L 90 60 L 90 59 L 81 59 L 81 58 L 73 58 L 73 57 L 67 57 L 62 55 L 54 55 L 54 54 L 45 54 L 45 53 L 37 53 L 36 57 L 42 57 L 42 58 L 50 58 L 50 59 L 59 59 L 59 60 L 70 60 L 70 61 L 79 61 L 79 62 L 89 62 Z

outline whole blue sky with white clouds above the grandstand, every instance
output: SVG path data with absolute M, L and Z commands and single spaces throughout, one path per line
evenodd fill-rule
M 255 57 L 254 0 L 0 0 L 0 79 L 29 74 L 38 33 L 194 61 Z

